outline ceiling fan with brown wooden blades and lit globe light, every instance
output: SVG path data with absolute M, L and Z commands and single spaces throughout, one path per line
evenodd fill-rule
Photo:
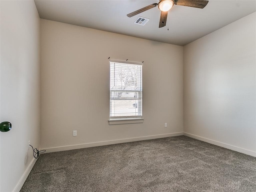
M 159 3 L 153 3 L 149 6 L 136 10 L 132 13 L 127 14 L 128 17 L 135 16 L 140 14 L 146 10 L 154 8 L 158 6 L 161 11 L 160 21 L 159 21 L 159 28 L 166 26 L 166 20 L 168 16 L 168 11 L 172 8 L 173 5 L 181 5 L 181 6 L 188 6 L 188 7 L 195 7 L 195 8 L 204 8 L 207 4 L 207 0 L 160 0 Z

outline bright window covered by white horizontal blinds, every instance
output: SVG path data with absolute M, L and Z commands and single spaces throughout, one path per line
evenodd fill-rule
M 110 62 L 110 120 L 142 119 L 142 65 Z

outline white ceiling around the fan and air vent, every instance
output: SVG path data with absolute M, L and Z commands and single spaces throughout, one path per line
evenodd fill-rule
M 160 10 L 126 14 L 158 0 L 34 0 L 40 18 L 184 46 L 256 11 L 256 0 L 209 0 L 205 8 L 174 5 L 166 26 L 158 28 Z M 138 16 L 149 18 L 134 24 Z

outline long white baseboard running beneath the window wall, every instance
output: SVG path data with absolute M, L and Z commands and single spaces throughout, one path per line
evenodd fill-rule
M 79 144 L 79 145 L 54 147 L 54 148 L 43 148 L 40 150 L 46 150 L 46 153 L 51 153 L 51 152 L 58 152 L 58 151 L 66 151 L 66 150 L 73 150 L 73 149 L 80 149 L 80 148 L 96 147 L 96 146 L 103 146 L 103 145 L 127 143 L 127 142 L 142 141 L 142 140 L 149 140 L 149 139 L 181 136 L 181 135 L 183 135 L 183 132 L 152 135 L 152 136 L 143 136 L 143 137 L 134 137 L 134 138 L 118 139 L 118 140 L 110 140 L 110 141 L 102 141 L 102 142 L 93 142 L 93 143 L 85 143 L 85 144 Z

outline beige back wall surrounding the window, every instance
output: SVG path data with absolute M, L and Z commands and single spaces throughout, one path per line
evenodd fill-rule
M 144 123 L 108 124 L 108 57 L 144 61 Z M 182 134 L 182 76 L 182 46 L 41 20 L 40 147 L 50 152 Z M 73 147 L 56 149 L 62 146 Z

